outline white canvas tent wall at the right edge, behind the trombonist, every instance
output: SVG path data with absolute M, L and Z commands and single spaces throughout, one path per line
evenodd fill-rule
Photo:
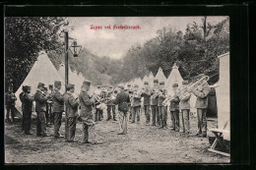
M 218 128 L 230 130 L 229 52 L 220 55 L 220 79 L 216 87 Z M 224 128 L 225 126 L 225 128 Z

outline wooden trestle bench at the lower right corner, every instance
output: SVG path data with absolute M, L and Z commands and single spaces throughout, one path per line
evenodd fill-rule
M 224 143 L 224 140 L 230 142 L 230 131 L 224 130 L 224 129 L 210 129 L 211 132 L 215 135 L 216 139 L 215 142 L 213 142 L 212 146 L 208 149 L 209 151 L 222 154 L 224 156 L 230 156 L 229 153 L 226 153 L 224 151 L 220 151 L 216 149 L 217 144 L 219 143 L 222 147 L 222 149 L 228 149 L 227 145 Z

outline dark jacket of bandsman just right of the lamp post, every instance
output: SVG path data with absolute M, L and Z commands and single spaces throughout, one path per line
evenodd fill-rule
M 67 91 L 64 94 L 65 106 L 67 107 L 66 114 L 67 117 L 78 116 L 78 105 L 79 102 L 74 98 L 71 92 Z

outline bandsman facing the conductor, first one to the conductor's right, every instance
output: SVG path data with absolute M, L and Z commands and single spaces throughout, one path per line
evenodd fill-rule
M 141 93 L 138 90 L 139 85 L 134 85 L 133 97 L 131 102 L 132 107 L 132 122 L 135 123 L 135 117 L 137 117 L 137 123 L 140 123 L 140 111 L 141 111 Z

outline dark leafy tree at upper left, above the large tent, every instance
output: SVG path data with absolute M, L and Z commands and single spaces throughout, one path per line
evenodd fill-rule
M 63 18 L 5 18 L 5 79 L 16 90 L 27 77 L 37 53 L 44 50 L 59 52 L 62 43 L 60 29 L 67 25 Z

